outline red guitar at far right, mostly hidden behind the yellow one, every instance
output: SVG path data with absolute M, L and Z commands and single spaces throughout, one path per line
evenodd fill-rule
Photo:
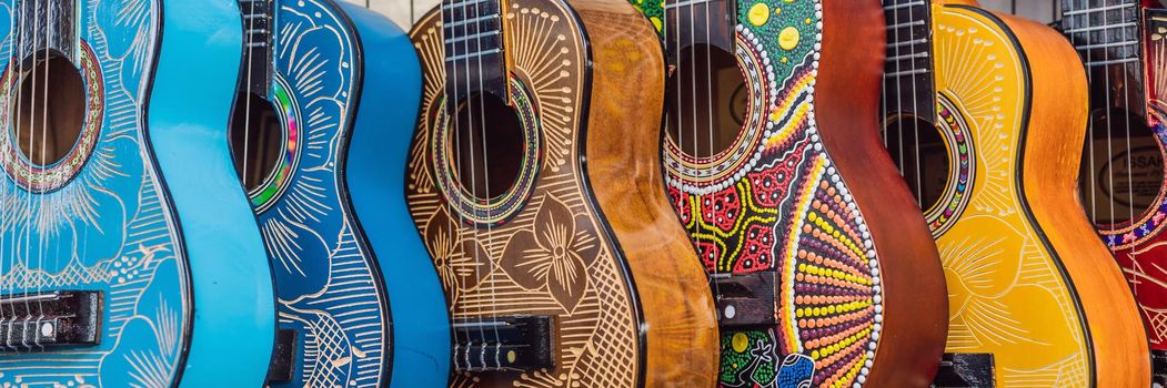
M 1086 216 L 1123 268 L 1161 360 L 1167 358 L 1167 9 L 1155 1 L 1067 0 L 1061 27 L 1090 80 L 1081 178 Z

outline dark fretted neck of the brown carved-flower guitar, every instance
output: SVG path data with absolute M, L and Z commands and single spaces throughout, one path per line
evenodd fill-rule
M 474 92 L 508 100 L 505 0 L 442 0 L 446 89 L 453 101 Z

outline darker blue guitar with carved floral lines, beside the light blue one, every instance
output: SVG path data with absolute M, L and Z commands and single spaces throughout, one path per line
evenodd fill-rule
M 333 0 L 239 3 L 231 146 L 274 276 L 266 386 L 445 383 L 448 317 L 403 196 L 420 96 L 408 40 Z

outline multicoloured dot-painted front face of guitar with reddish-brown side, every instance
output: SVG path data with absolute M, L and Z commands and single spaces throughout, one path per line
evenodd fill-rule
M 741 132 L 710 157 L 671 139 L 664 150 L 671 199 L 706 268 L 780 277 L 777 326 L 722 331 L 721 386 L 860 386 L 881 330 L 879 261 L 815 120 L 822 3 L 738 9 Z

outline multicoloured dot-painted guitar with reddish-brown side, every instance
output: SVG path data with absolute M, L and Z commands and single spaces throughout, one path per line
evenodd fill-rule
M 944 274 L 879 137 L 879 2 L 662 15 L 666 183 L 711 276 L 720 386 L 927 387 Z

